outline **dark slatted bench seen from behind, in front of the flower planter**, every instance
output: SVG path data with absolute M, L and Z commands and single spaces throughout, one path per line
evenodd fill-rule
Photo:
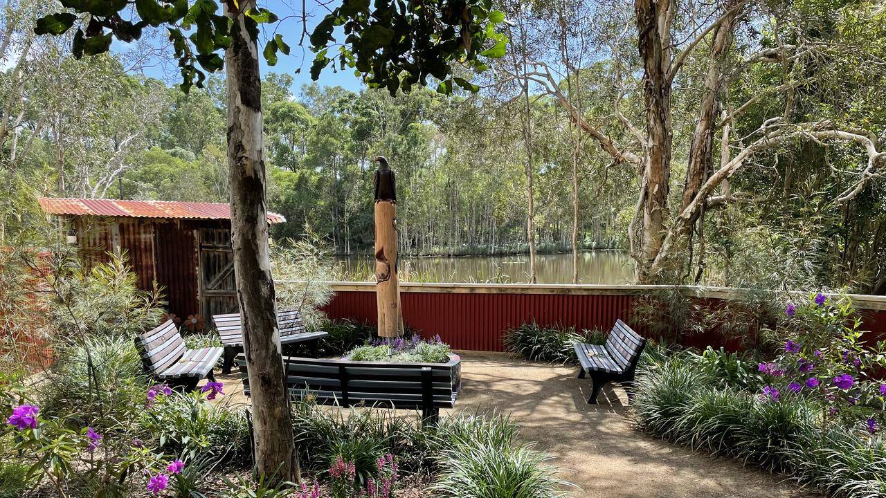
M 416 409 L 436 424 L 439 409 L 455 407 L 462 387 L 457 356 L 448 363 L 355 362 L 284 356 L 291 401 L 313 398 L 320 405 L 363 405 Z M 250 395 L 246 362 L 240 356 L 244 393 Z

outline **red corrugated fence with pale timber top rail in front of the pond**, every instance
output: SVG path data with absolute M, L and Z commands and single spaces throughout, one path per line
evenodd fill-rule
M 324 311 L 330 318 L 376 323 L 376 293 L 372 284 L 333 284 L 336 295 Z M 439 334 L 454 349 L 501 351 L 504 331 L 521 323 L 571 326 L 577 330 L 609 331 L 616 319 L 631 323 L 633 301 L 654 286 L 402 284 L 403 321 L 424 337 Z M 718 293 L 719 292 L 719 293 Z M 716 302 L 734 290 L 711 290 L 705 300 Z M 703 293 L 703 292 L 702 292 Z M 886 340 L 886 298 L 854 296 L 865 317 L 867 340 Z M 867 309 L 866 309 L 867 308 Z M 635 327 L 644 334 L 642 327 Z M 725 346 L 735 340 L 716 333 L 685 338 L 687 346 Z

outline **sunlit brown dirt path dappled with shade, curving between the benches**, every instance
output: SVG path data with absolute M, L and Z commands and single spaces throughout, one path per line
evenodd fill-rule
M 577 379 L 575 368 L 522 362 L 505 354 L 460 354 L 463 390 L 456 411 L 494 409 L 512 416 L 520 437 L 554 455 L 551 463 L 561 469 L 560 477 L 579 486 L 571 496 L 816 496 L 754 467 L 696 454 L 634 431 L 625 392 L 607 386 L 600 404 L 588 405 L 590 383 Z M 225 402 L 245 401 L 238 377 L 220 380 L 229 393 Z

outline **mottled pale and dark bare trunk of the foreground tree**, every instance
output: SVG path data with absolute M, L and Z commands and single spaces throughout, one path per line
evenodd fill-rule
M 272 481 L 300 480 L 292 440 L 274 281 L 268 254 L 268 207 L 261 141 L 261 81 L 254 21 L 243 12 L 253 1 L 227 10 L 233 19 L 225 54 L 228 82 L 228 163 L 231 242 L 237 300 L 243 321 L 246 363 L 253 401 L 253 436 L 258 471 Z

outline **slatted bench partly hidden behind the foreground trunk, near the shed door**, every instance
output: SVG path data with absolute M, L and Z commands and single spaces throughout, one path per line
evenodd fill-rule
M 224 345 L 224 362 L 221 364 L 221 373 L 229 374 L 237 354 L 243 353 L 243 326 L 240 323 L 240 314 L 213 315 L 213 322 L 215 329 L 219 331 L 221 344 Z M 316 353 L 316 341 L 329 335 L 323 331 L 308 332 L 298 309 L 278 312 L 277 328 L 280 330 L 280 344 L 284 347 L 284 353 L 290 349 L 287 346 L 311 341 L 314 341 L 313 346 Z

